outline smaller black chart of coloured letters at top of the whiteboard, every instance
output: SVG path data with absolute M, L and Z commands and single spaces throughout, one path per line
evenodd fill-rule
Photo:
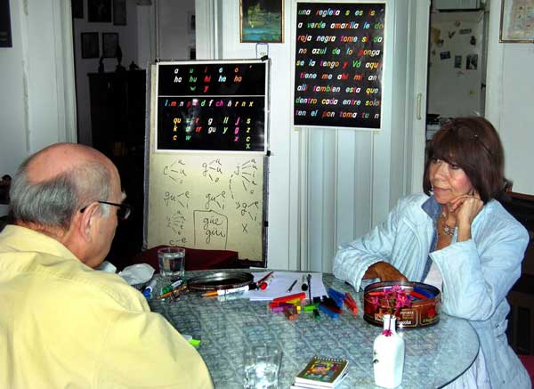
M 269 61 L 158 63 L 156 149 L 266 153 Z

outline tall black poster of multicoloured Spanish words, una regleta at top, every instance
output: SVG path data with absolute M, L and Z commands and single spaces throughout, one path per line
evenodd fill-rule
M 380 129 L 385 3 L 296 10 L 294 126 Z

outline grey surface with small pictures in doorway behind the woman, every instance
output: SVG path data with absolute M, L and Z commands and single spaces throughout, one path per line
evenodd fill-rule
M 449 118 L 485 115 L 489 11 L 444 3 L 430 13 L 426 140 Z

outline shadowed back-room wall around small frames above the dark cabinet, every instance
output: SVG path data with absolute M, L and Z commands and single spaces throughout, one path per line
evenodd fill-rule
M 87 73 L 98 72 L 100 58 L 82 58 L 81 33 L 98 32 L 99 50 L 102 55 L 102 33 L 117 32 L 118 43 L 123 53 L 122 65 L 128 69 L 132 61 L 137 63 L 137 5 L 136 0 L 126 0 L 126 25 L 115 26 L 113 21 L 89 22 L 87 21 L 87 0 L 84 0 L 84 19 L 73 19 L 74 53 L 76 64 L 76 95 L 77 95 L 77 119 L 78 119 L 78 142 L 91 145 L 91 101 L 89 94 L 89 77 Z M 112 3 L 112 2 L 111 2 Z M 103 60 L 104 71 L 115 71 L 116 58 Z M 144 69 L 145 64 L 138 66 Z

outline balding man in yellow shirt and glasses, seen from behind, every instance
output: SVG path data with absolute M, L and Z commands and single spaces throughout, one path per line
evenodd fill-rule
M 12 180 L 0 233 L 0 387 L 212 388 L 197 351 L 141 293 L 94 271 L 125 215 L 117 168 L 58 143 Z

